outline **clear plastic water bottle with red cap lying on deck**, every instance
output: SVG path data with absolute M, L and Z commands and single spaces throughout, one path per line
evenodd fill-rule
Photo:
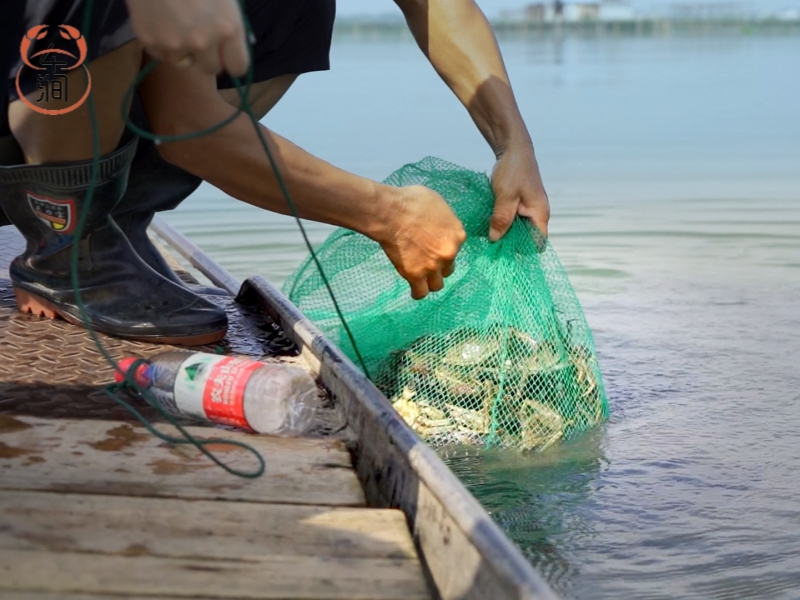
M 135 360 L 121 360 L 120 370 Z M 124 377 L 117 372 L 116 379 Z M 321 408 L 303 369 L 239 356 L 164 352 L 139 365 L 134 380 L 171 414 L 271 435 L 307 433 Z

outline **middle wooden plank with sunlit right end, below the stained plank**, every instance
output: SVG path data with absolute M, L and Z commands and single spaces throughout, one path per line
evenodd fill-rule
M 399 510 L 0 491 L 0 548 L 417 561 Z

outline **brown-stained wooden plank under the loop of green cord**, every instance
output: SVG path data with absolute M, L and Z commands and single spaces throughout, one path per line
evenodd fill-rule
M 266 473 L 253 480 L 229 475 L 197 449 L 167 444 L 129 424 L 0 415 L 0 489 L 331 506 L 365 503 L 341 441 L 207 427 L 188 430 L 199 438 L 225 437 L 252 445 L 264 457 Z M 256 465 L 244 450 L 220 444 L 211 449 L 239 469 Z

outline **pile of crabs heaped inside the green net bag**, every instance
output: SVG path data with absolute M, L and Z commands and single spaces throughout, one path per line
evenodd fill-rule
M 568 348 L 514 327 L 457 329 L 392 353 L 379 386 L 431 445 L 542 451 L 605 416 L 594 356 Z

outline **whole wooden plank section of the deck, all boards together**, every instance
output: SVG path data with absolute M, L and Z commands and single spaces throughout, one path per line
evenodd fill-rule
M 265 475 L 129 423 L 0 415 L 0 598 L 429 597 L 404 515 L 365 506 L 341 441 L 189 430 L 251 444 Z

